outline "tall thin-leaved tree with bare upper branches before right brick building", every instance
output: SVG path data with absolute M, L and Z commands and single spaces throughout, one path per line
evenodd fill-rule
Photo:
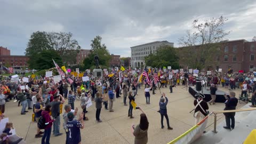
M 221 41 L 225 41 L 225 37 L 230 33 L 222 29 L 227 20 L 222 16 L 202 23 L 194 20 L 193 29 L 179 39 L 182 46 L 179 49 L 180 64 L 199 70 L 217 65 L 217 55 L 221 54 L 218 49 L 223 46 Z

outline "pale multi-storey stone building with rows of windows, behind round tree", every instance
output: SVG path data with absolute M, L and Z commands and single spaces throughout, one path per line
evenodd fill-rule
M 161 45 L 173 46 L 173 43 L 167 41 L 156 41 L 131 47 L 131 67 L 137 68 L 145 65 L 145 57 L 150 53 L 156 53 Z

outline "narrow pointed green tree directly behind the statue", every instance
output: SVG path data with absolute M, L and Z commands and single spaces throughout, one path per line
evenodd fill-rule
M 102 38 L 100 36 L 96 36 L 91 41 L 91 52 L 83 61 L 85 69 L 90 69 L 93 68 L 92 66 L 95 66 L 94 55 L 99 56 L 99 66 L 101 68 L 109 66 L 111 57 L 107 50 L 107 46 L 105 44 L 101 44 L 101 39 Z

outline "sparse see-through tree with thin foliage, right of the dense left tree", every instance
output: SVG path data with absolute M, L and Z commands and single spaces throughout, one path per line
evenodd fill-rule
M 72 39 L 71 33 L 47 33 L 51 49 L 57 51 L 64 63 L 73 65 L 76 63 L 76 55 L 81 50 L 76 39 Z

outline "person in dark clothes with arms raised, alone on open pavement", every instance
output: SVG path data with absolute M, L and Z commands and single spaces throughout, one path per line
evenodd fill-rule
M 163 93 L 162 97 L 159 101 L 159 107 L 160 107 L 159 112 L 161 114 L 161 125 L 162 125 L 162 129 L 164 129 L 163 121 L 164 121 L 164 117 L 165 117 L 166 123 L 167 123 L 167 126 L 168 126 L 168 130 L 172 130 L 173 128 L 169 124 L 169 117 L 167 115 L 167 108 L 166 108 L 167 103 L 168 103 L 168 99 L 165 97 L 165 93 Z

